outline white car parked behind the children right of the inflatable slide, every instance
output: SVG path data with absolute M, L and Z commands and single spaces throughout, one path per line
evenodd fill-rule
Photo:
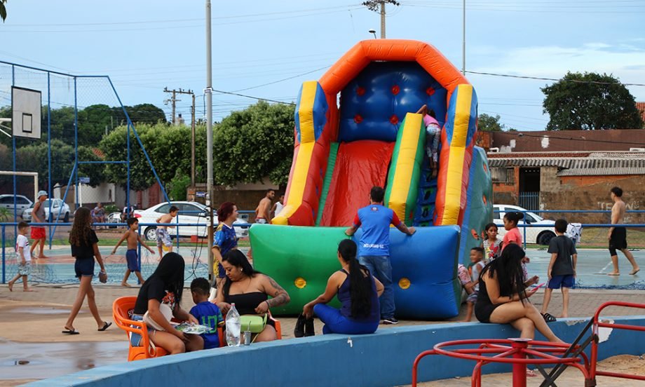
M 555 237 L 555 222 L 548 219 L 543 219 L 542 217 L 530 212 L 522 207 L 517 205 L 509 204 L 494 204 L 493 205 L 493 222 L 497 224 L 498 237 L 503 238 L 506 230 L 504 229 L 504 215 L 506 212 L 524 212 L 524 220 L 517 222 L 517 228 L 520 229 L 520 234 L 524 238 L 524 233 L 526 233 L 525 240 L 527 243 L 536 243 L 538 245 L 548 245 L 551 238 Z M 524 222 L 528 224 L 539 224 L 539 227 L 522 227 Z

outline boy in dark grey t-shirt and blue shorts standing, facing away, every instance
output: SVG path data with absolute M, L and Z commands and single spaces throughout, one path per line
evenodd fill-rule
M 555 238 L 549 243 L 548 252 L 551 253 L 549 262 L 548 276 L 549 282 L 544 291 L 544 301 L 542 303 L 542 316 L 546 322 L 555 321 L 555 317 L 547 313 L 551 293 L 554 289 L 562 287 L 562 317 L 569 316 L 569 289 L 576 283 L 576 261 L 578 252 L 573 245 L 571 238 L 564 235 L 566 233 L 566 220 L 557 219 L 555 221 Z

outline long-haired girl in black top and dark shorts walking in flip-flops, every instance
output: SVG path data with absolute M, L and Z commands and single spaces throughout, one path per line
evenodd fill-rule
M 74 318 L 79 314 L 81 305 L 83 304 L 83 300 L 86 296 L 88 297 L 88 306 L 96 320 L 98 330 L 102 332 L 112 325 L 111 322 L 102 320 L 94 299 L 92 278 L 94 276 L 95 258 L 96 262 L 101 266 L 102 275 L 107 278 L 107 274 L 105 273 L 103 259 L 99 252 L 99 239 L 91 228 L 91 222 L 92 218 L 90 217 L 90 210 L 88 208 L 81 207 L 76 210 L 72 231 L 69 232 L 69 244 L 72 245 L 72 257 L 76 258 L 74 271 L 76 271 L 76 278 L 81 280 L 81 286 L 79 287 L 79 292 L 76 294 L 76 299 L 74 300 L 74 305 L 72 305 L 72 311 L 69 313 L 69 318 L 67 318 L 67 322 L 65 322 L 65 330 L 62 331 L 64 334 L 79 334 L 79 331 L 74 328 Z

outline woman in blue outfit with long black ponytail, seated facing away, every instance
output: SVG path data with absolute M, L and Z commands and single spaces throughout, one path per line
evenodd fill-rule
M 342 269 L 327 280 L 325 292 L 302 308 L 302 314 L 311 318 L 313 313 L 325 323 L 322 334 L 367 334 L 376 332 L 381 318 L 379 296 L 383 284 L 374 278 L 356 259 L 356 243 L 341 240 L 338 262 Z M 340 310 L 326 305 L 338 296 Z

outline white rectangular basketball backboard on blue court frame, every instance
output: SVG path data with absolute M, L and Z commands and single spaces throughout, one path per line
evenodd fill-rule
M 11 123 L 14 137 L 40 139 L 41 98 L 39 90 L 11 87 Z

